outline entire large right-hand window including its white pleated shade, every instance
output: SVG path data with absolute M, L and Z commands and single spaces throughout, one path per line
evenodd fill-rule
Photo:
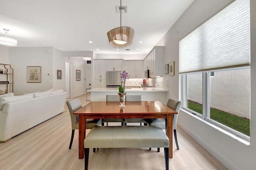
M 182 109 L 250 136 L 250 0 L 236 0 L 180 40 Z

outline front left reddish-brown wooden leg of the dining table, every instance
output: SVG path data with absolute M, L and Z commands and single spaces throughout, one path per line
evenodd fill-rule
M 79 159 L 84 158 L 84 139 L 85 139 L 85 132 L 86 132 L 86 119 L 84 115 L 79 115 L 79 136 L 78 136 L 78 142 L 79 142 Z

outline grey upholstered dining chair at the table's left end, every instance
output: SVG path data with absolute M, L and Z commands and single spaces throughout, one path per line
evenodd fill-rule
M 71 126 L 72 126 L 72 134 L 71 134 L 71 139 L 69 144 L 69 149 L 71 149 L 73 139 L 74 139 L 75 129 L 79 128 L 79 115 L 73 115 L 73 113 L 76 112 L 78 109 L 82 108 L 82 104 L 80 100 L 77 98 L 77 99 L 72 99 L 70 101 L 67 101 L 67 105 L 70 113 Z M 86 128 L 91 129 L 95 126 L 100 126 L 101 122 L 102 122 L 102 119 L 86 119 Z M 95 149 L 94 149 L 94 152 L 95 152 Z

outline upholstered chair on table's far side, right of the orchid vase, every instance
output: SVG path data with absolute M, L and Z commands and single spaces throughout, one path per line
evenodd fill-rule
M 142 101 L 142 95 L 126 95 L 125 101 Z M 143 118 L 128 118 L 124 119 L 124 125 L 126 126 L 127 123 L 144 123 L 144 126 L 147 126 L 146 120 Z

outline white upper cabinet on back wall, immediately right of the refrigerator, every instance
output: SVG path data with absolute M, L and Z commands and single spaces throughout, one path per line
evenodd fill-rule
M 143 61 L 123 61 L 123 70 L 130 78 L 144 78 Z

